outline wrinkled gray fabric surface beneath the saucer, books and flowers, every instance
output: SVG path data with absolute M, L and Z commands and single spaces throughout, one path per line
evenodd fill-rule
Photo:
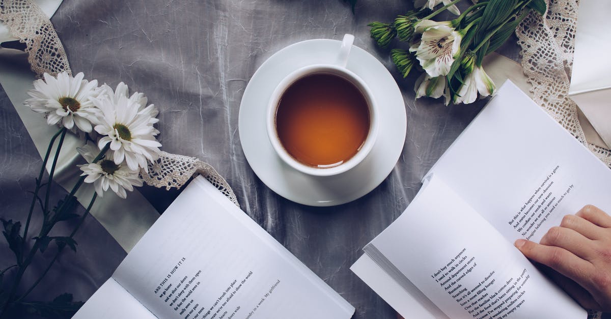
M 144 92 L 160 110 L 163 150 L 216 167 L 243 210 L 353 304 L 354 318 L 395 318 L 348 268 L 407 207 L 420 178 L 483 106 L 414 102 L 415 78 L 400 78 L 366 25 L 391 21 L 411 9 L 409 3 L 359 0 L 353 15 L 342 0 L 65 0 L 51 21 L 75 73 Z M 277 196 L 252 172 L 240 146 L 240 101 L 254 71 L 276 51 L 301 40 L 341 40 L 345 33 L 356 35 L 355 45 L 378 57 L 397 79 L 407 138 L 397 166 L 370 194 L 338 207 L 306 207 Z M 518 57 L 514 41 L 500 51 Z M 24 190 L 34 188 L 41 160 L 4 92 L 0 106 L 0 206 L 2 216 L 17 216 L 12 209 L 28 205 Z M 143 193 L 159 211 L 177 196 L 159 189 Z M 119 265 L 122 249 L 97 221 L 90 218 L 86 226 L 78 238 L 82 249 L 62 259 L 64 267 L 56 267 L 49 274 L 54 279 L 35 296 L 70 291 L 86 299 Z M 3 240 L 0 248 L 4 259 L 9 254 Z

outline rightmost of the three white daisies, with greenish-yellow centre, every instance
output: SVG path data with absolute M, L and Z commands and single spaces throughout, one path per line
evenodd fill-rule
M 114 163 L 125 160 L 133 171 L 138 167 L 148 171 L 147 160 L 158 159 L 161 146 L 155 139 L 159 131 L 153 127 L 157 111 L 153 105 L 145 106 L 144 101 L 142 97 L 129 98 L 123 93 L 93 100 L 102 111 L 95 131 L 105 135 L 98 141 L 98 147 L 103 149 L 110 143 Z

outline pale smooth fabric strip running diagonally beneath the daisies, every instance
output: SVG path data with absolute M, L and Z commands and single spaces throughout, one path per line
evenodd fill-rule
M 38 153 L 44 156 L 49 139 L 58 128 L 50 127 L 41 114 L 32 112 L 23 105 L 23 101 L 28 97 L 27 90 L 33 88 L 32 82 L 36 79 L 29 69 L 27 54 L 1 49 L 0 57 L 0 85 L 13 103 Z M 76 152 L 76 146 L 79 145 L 82 145 L 82 142 L 76 136 L 67 134 L 57 163 L 54 180 L 67 191 L 72 189 L 79 178 L 80 170 L 75 166 L 80 157 Z M 77 199 L 85 207 L 92 195 L 92 184 L 82 185 L 76 193 Z M 159 218 L 159 213 L 136 189 L 128 193 L 127 199 L 120 199 L 112 191 L 104 193 L 103 197 L 95 200 L 90 213 L 127 252 Z

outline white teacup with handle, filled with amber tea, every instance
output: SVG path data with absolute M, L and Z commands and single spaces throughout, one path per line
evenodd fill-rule
M 269 141 L 279 157 L 305 174 L 337 175 L 359 164 L 375 142 L 376 105 L 367 84 L 346 68 L 353 35 L 335 64 L 307 65 L 274 90 Z

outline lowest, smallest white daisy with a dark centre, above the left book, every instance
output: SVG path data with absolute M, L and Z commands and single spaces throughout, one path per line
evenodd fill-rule
M 78 152 L 89 162 L 89 164 L 78 165 L 81 168 L 81 176 L 86 176 L 85 183 L 93 183 L 95 193 L 102 197 L 104 191 L 112 189 L 117 196 L 127 197 L 125 190 L 133 191 L 133 186 L 142 186 L 139 171 L 133 171 L 125 163 L 116 164 L 112 153 L 97 163 L 90 163 L 97 156 L 98 150 L 90 144 L 78 147 Z

